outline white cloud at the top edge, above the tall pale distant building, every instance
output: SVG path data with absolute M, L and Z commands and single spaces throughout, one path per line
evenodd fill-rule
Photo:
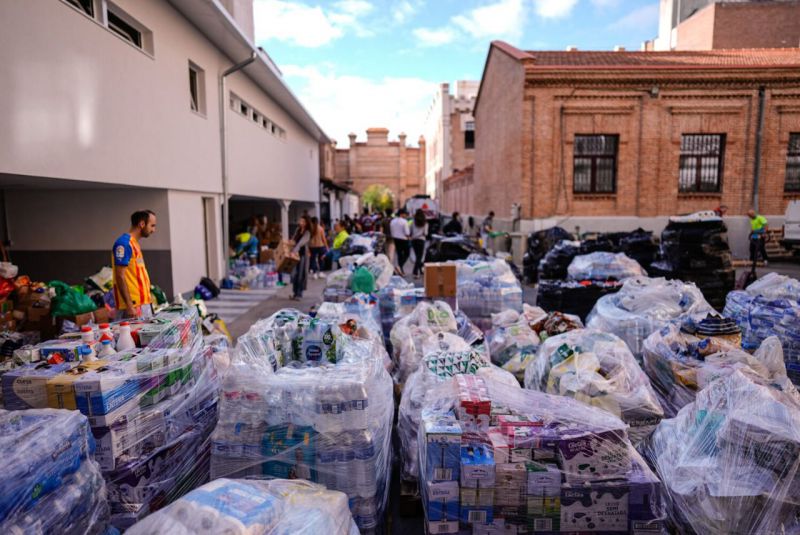
M 562 1 L 573 0 L 558 0 Z M 499 0 L 470 9 L 451 20 L 474 38 L 517 40 L 522 36 L 522 28 L 525 25 L 524 4 L 522 0 Z

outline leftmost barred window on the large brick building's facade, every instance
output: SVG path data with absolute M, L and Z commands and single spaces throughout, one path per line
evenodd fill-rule
M 618 145 L 617 135 L 575 136 L 572 161 L 573 192 L 616 192 Z

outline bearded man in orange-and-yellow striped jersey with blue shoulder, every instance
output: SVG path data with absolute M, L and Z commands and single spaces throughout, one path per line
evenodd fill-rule
M 152 314 L 150 276 L 144 265 L 139 240 L 156 231 L 156 214 L 141 210 L 131 214 L 131 228 L 114 242 L 114 300 L 126 318 Z

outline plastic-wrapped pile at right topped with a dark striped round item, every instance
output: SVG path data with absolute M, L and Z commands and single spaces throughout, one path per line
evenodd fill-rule
M 794 387 L 786 376 L 783 350 L 776 337 L 767 338 L 754 354 L 724 340 L 698 338 L 670 324 L 644 341 L 644 371 L 658 394 L 667 418 L 694 401 L 697 392 L 717 377 L 750 368 L 786 392 Z

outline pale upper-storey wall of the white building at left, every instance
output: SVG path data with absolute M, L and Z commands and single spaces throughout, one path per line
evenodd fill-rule
M 153 32 L 153 56 L 59 0 L 0 2 L 0 171 L 220 192 L 217 76 L 231 61 L 168 3 L 116 3 Z M 189 61 L 205 70 L 204 115 Z M 229 87 L 287 130 L 229 116 L 231 192 L 316 201 L 316 140 L 243 74 Z

